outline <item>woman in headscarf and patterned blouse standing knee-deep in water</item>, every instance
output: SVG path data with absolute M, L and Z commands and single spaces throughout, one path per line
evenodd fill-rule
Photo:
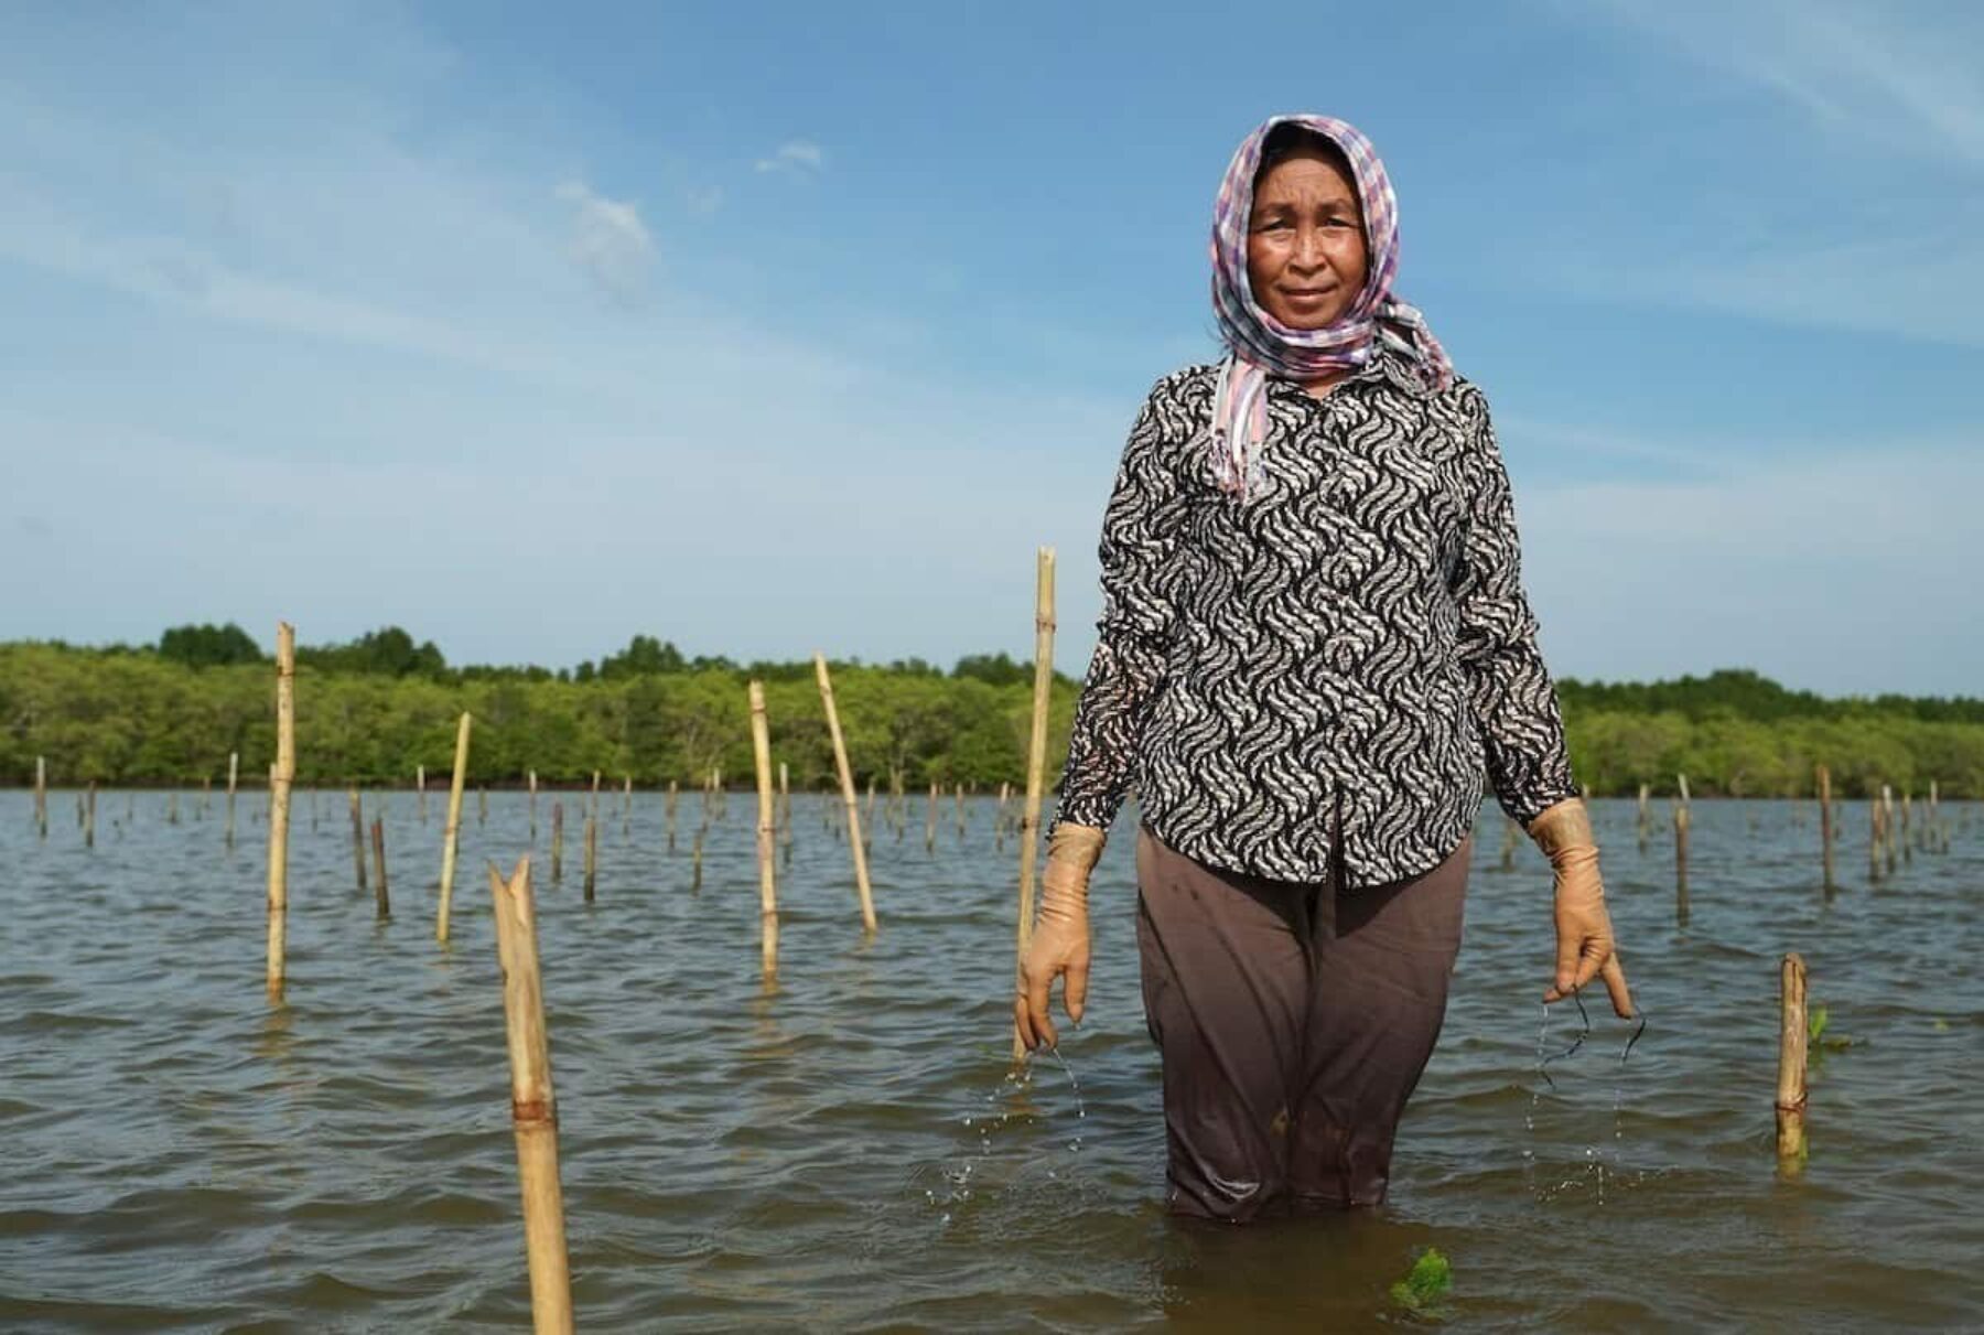
M 1103 514 L 1099 639 L 1014 1020 L 1087 992 L 1087 879 L 1135 782 L 1169 1204 L 1379 1204 L 1460 950 L 1480 776 L 1555 879 L 1553 1002 L 1633 1014 L 1480 389 L 1393 296 L 1351 125 L 1274 117 L 1212 220 L 1226 357 L 1167 375 Z

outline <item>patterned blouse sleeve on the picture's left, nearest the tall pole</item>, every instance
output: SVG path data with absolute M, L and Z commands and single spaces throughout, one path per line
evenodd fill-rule
M 1109 829 L 1115 821 L 1165 676 L 1177 615 L 1165 577 L 1180 520 L 1177 476 L 1161 456 L 1167 403 L 1167 381 L 1161 381 L 1137 413 L 1103 510 L 1097 547 L 1103 609 L 1095 621 L 1095 655 L 1075 702 L 1055 825 Z M 1175 436 L 1178 423 L 1169 425 Z

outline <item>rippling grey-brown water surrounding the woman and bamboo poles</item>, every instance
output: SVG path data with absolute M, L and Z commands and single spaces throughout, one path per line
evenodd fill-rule
M 571 797 L 567 793 L 567 797 Z M 262 990 L 266 831 L 242 799 L 0 799 L 0 1327 L 476 1329 L 528 1323 L 502 994 L 484 859 L 528 851 L 526 799 L 474 801 L 454 942 L 433 938 L 440 809 L 385 803 L 389 922 L 353 887 L 343 793 L 298 793 L 290 994 Z M 311 821 L 311 805 L 317 821 Z M 575 809 L 577 799 L 567 801 Z M 603 799 L 597 903 L 536 887 L 581 1329 L 1363 1329 L 1421 1248 L 1458 1329 L 1984 1327 L 1984 823 L 1867 883 L 1849 803 L 1817 889 L 1809 803 L 1694 807 L 1692 916 L 1673 839 L 1593 803 L 1649 1030 L 1603 1004 L 1538 1077 L 1550 883 L 1500 869 L 1482 815 L 1446 1030 L 1379 1212 L 1252 1230 L 1161 1212 L 1157 1055 L 1133 936 L 1131 817 L 1095 877 L 1089 1018 L 1067 1067 L 1008 1073 L 1016 851 L 992 803 L 960 837 L 923 803 L 873 831 L 881 932 L 847 849 L 794 799 L 776 990 L 758 970 L 754 799 L 732 793 L 690 893 L 661 799 Z M 127 815 L 129 811 L 129 815 Z M 1803 952 L 1827 1035 L 1811 1156 L 1772 1151 L 1778 958 Z M 1603 1014 L 1601 1014 L 1603 1012 Z M 1079 1087 L 1075 1085 L 1079 1081 Z

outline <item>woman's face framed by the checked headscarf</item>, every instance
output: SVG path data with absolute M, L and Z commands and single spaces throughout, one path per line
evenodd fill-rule
M 1313 149 L 1270 167 L 1248 218 L 1254 303 L 1290 329 L 1321 329 L 1363 292 L 1367 268 L 1363 210 L 1343 169 Z

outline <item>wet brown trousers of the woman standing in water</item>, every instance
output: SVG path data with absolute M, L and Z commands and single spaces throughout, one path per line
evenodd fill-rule
M 1343 891 L 1196 863 L 1137 829 L 1143 1006 L 1165 1065 L 1167 1204 L 1246 1222 L 1385 1200 L 1446 1016 L 1468 835 Z

